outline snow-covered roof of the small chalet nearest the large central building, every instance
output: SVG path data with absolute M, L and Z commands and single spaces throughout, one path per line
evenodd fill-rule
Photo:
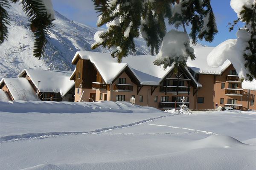
M 40 81 L 40 92 L 60 93 L 61 96 L 64 96 L 75 85 L 75 82 L 70 80 L 72 71 L 25 69 L 18 77 L 21 77 L 25 72 L 35 87 L 38 87 L 38 81 Z

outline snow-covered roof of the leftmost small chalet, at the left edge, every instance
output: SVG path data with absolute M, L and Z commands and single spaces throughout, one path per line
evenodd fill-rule
M 14 100 L 37 100 L 36 93 L 26 78 L 3 78 Z

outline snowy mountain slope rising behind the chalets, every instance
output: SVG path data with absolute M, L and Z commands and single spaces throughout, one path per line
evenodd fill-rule
M 25 68 L 73 70 L 71 60 L 74 54 L 79 50 L 92 51 L 90 45 L 94 42 L 93 35 L 100 29 L 71 21 L 55 11 L 55 27 L 51 29 L 51 39 L 47 44 L 45 57 L 38 60 L 33 57 L 34 40 L 21 6 L 12 5 L 8 13 L 11 26 L 8 41 L 0 46 L 0 79 L 16 77 Z M 150 54 L 142 38 L 138 38 L 136 44 L 136 54 Z M 104 48 L 93 51 L 110 52 Z

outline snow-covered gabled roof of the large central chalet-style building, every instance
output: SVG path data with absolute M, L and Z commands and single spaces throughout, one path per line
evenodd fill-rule
M 111 54 L 108 53 L 78 51 L 72 60 L 73 64 L 78 57 L 90 60 L 108 84 L 112 83 L 126 67 L 131 69 L 141 85 L 159 85 L 161 80 L 172 70 L 171 67 L 163 70 L 162 67 L 154 65 L 153 61 L 157 59 L 154 56 L 128 56 L 122 59 L 122 63 L 118 63 L 116 58 L 111 57 Z

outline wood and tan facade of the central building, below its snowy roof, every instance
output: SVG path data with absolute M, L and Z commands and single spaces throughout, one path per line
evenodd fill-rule
M 97 54 L 97 53 L 95 53 Z M 186 105 L 195 109 L 195 91 L 198 82 L 187 68 L 166 71 L 158 84 L 142 84 L 129 66 L 115 75 L 111 82 L 105 82 L 102 73 L 90 59 L 82 59 L 79 54 L 73 59 L 76 70 L 70 80 L 75 83 L 75 102 L 81 101 L 126 101 L 131 97 L 136 104 L 162 110 L 179 108 L 185 96 Z

